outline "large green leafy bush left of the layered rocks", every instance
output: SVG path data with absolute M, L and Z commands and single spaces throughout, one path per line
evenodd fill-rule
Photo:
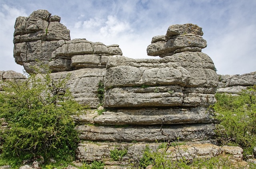
M 54 82 L 50 73 L 26 81 L 5 81 L 0 92 L 0 118 L 8 123 L 2 133 L 4 158 L 70 159 L 79 141 L 70 117 L 84 107 L 65 88 L 68 78 Z

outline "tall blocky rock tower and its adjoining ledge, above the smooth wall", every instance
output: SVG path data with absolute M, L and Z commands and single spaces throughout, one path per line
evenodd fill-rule
M 109 56 L 122 55 L 116 44 L 70 40 L 70 31 L 60 23 L 60 17 L 47 10 L 18 17 L 14 28 L 14 58 L 27 73 L 46 73 L 45 66 L 52 72 L 105 68 Z

